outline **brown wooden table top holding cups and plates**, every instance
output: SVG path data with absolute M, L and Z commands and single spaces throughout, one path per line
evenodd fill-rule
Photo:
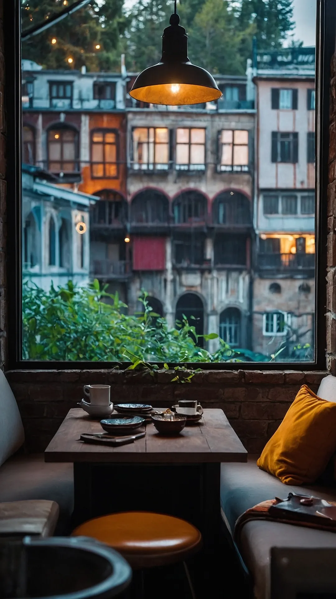
M 152 423 L 146 436 L 121 447 L 79 441 L 85 432 L 103 432 L 81 408 L 69 411 L 44 453 L 46 462 L 202 463 L 246 462 L 248 453 L 222 410 L 204 409 L 197 424 L 174 437 L 158 434 Z M 143 431 L 143 427 L 133 431 Z

